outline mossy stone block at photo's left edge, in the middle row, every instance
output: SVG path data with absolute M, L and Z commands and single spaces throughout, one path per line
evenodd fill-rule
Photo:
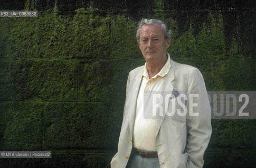
M 77 61 L 5 60 L 0 81 L 2 101 L 77 100 Z

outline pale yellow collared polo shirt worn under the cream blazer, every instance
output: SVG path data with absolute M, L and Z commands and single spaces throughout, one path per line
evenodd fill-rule
M 136 105 L 136 117 L 134 124 L 133 145 L 134 148 L 156 152 L 156 122 L 157 119 L 144 119 L 144 91 L 161 91 L 164 85 L 165 76 L 170 69 L 170 56 L 164 67 L 157 75 L 149 79 L 147 63 L 143 72 L 143 79 L 140 84 Z

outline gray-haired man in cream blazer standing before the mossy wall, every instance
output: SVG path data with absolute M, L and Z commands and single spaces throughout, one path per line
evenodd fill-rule
M 146 63 L 128 76 L 118 152 L 111 161 L 112 168 L 204 164 L 203 155 L 212 132 L 205 83 L 197 68 L 170 59 L 170 41 L 170 33 L 160 20 L 142 19 L 139 23 L 137 43 Z M 175 114 L 167 115 L 165 110 L 157 119 L 145 117 L 150 113 L 145 108 L 150 109 L 151 103 L 144 98 L 154 97 L 153 91 L 172 93 L 167 107 Z M 160 108 L 158 112 L 161 114 Z

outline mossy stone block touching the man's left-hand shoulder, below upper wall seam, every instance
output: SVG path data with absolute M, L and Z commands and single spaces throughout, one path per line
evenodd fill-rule
M 129 71 L 139 65 L 137 59 L 80 61 L 80 101 L 124 101 Z

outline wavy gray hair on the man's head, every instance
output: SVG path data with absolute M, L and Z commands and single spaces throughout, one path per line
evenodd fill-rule
M 141 29 L 142 26 L 144 25 L 154 25 L 154 24 L 159 24 L 160 26 L 163 27 L 164 31 L 165 31 L 165 40 L 168 40 L 170 38 L 171 32 L 170 30 L 167 29 L 166 25 L 161 21 L 161 20 L 157 20 L 157 19 L 141 19 L 140 23 L 138 25 L 138 29 L 137 29 L 137 40 L 140 41 L 140 37 L 139 37 L 139 31 Z

